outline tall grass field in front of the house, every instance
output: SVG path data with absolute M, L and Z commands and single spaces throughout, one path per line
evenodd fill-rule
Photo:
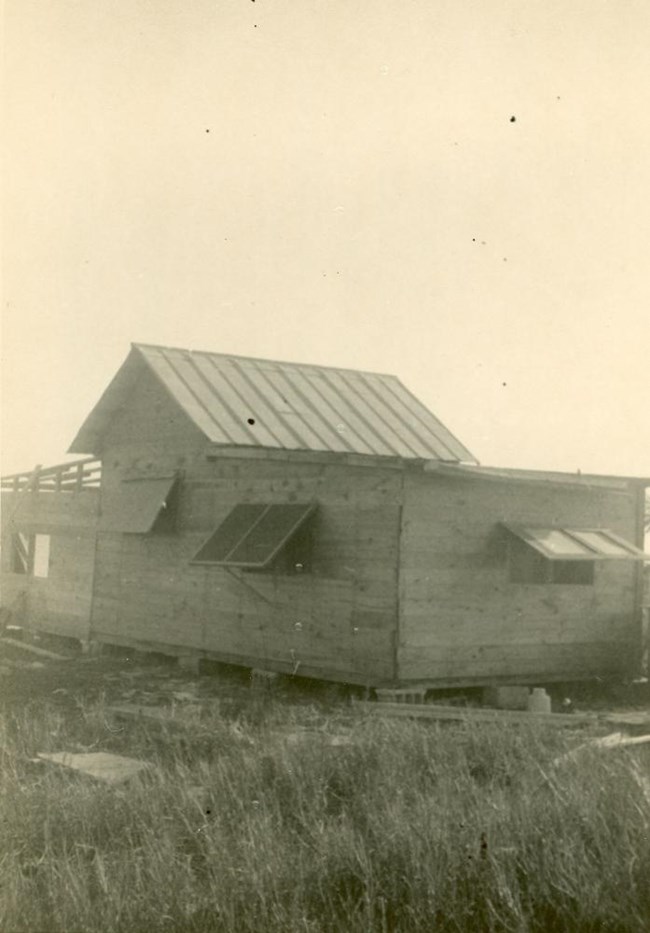
M 6 691 L 3 933 L 650 930 L 647 753 L 553 766 L 580 730 L 236 689 L 145 728 L 90 680 Z M 111 787 L 30 761 L 85 749 L 154 768 Z

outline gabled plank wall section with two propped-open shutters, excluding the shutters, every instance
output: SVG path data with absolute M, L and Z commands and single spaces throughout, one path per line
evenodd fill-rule
M 397 616 L 402 472 L 251 455 L 206 457 L 198 431 L 145 376 L 103 451 L 102 511 L 124 476 L 182 471 L 177 532 L 100 530 L 92 634 L 106 642 L 209 652 L 235 663 L 353 682 L 390 679 Z M 311 573 L 192 566 L 241 502 L 308 502 Z

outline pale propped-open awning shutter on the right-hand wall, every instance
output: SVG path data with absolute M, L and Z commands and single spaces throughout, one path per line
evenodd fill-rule
M 505 527 L 547 560 L 650 560 L 649 554 L 607 528 L 544 528 L 523 525 Z

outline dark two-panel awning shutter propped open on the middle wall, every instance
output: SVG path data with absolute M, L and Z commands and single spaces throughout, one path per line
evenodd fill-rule
M 194 564 L 267 567 L 297 535 L 315 505 L 236 505 L 192 559 Z

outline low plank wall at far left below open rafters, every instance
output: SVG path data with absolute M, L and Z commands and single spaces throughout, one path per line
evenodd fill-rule
M 1 605 L 15 624 L 87 638 L 98 505 L 94 490 L 2 494 Z M 47 577 L 12 572 L 16 532 L 50 536 Z

